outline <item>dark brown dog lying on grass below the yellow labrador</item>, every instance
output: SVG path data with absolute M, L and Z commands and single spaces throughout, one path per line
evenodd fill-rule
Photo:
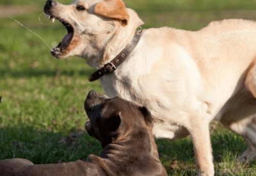
M 89 135 L 104 147 L 101 157 L 87 162 L 34 165 L 25 159 L 0 161 L 1 176 L 167 175 L 152 135 L 153 118 L 144 107 L 121 98 L 88 94 L 84 108 Z

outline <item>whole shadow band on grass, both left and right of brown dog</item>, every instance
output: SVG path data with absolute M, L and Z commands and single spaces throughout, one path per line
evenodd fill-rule
M 232 133 L 215 133 L 211 137 L 215 161 L 222 161 L 226 152 L 236 156 L 246 146 L 241 137 Z M 189 138 L 169 141 L 157 140 L 161 158 L 180 162 L 195 161 L 193 144 Z M 32 127 L 7 127 L 0 129 L 0 159 L 26 158 L 35 163 L 55 163 L 86 159 L 99 154 L 100 143 L 85 131 L 55 133 L 38 131 Z

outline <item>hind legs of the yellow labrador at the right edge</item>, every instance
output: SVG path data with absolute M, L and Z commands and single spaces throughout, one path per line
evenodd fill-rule
M 239 157 L 240 162 L 256 157 L 256 61 L 251 65 L 245 85 L 247 90 L 233 99 L 241 99 L 223 114 L 221 122 L 245 139 L 247 150 Z M 249 92 L 248 92 L 249 91 Z M 226 121 L 227 120 L 227 121 Z

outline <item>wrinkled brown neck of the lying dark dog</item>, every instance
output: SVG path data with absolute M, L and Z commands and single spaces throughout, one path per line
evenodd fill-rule
M 152 130 L 134 125 L 124 135 L 119 135 L 106 145 L 100 157 L 90 155 L 87 161 L 99 165 L 108 175 L 120 175 L 120 170 L 131 172 L 144 168 L 145 160 L 153 164 L 156 172 L 165 171 L 159 159 Z

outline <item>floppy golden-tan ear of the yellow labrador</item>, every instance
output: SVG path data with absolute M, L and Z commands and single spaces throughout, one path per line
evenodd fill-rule
M 129 14 L 122 0 L 104 0 L 95 6 L 94 12 L 107 18 L 119 19 L 123 26 L 129 21 Z

